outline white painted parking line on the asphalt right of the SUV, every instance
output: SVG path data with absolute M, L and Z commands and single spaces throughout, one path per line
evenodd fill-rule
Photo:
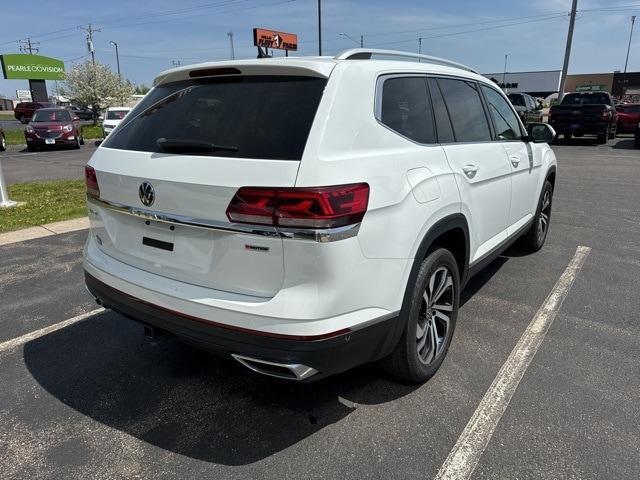
M 468 480 L 471 477 L 498 422 L 509 406 L 520 380 L 542 344 L 590 252 L 589 247 L 578 247 L 573 259 L 534 315 L 489 390 L 484 394 L 478 408 L 436 475 L 436 480 Z

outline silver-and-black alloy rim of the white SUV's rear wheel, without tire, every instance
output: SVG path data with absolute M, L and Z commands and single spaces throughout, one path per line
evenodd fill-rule
M 447 267 L 440 267 L 429 278 L 418 313 L 416 348 L 425 365 L 431 365 L 444 351 L 454 299 L 453 276 Z

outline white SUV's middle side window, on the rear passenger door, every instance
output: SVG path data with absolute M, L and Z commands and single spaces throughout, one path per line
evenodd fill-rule
M 449 110 L 456 141 L 491 141 L 489 123 L 476 84 L 450 78 L 439 78 L 438 84 Z

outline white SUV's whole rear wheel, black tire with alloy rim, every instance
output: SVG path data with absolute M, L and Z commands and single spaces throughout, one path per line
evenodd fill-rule
M 456 327 L 460 303 L 456 259 L 449 250 L 434 250 L 422 261 L 415 284 L 407 288 L 411 289 L 409 308 L 399 318 L 404 331 L 384 366 L 400 380 L 422 383 L 442 365 Z M 438 303 L 427 301 L 438 292 Z

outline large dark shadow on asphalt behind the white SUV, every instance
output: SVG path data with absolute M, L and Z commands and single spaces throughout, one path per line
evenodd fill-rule
M 63 404 L 154 446 L 245 465 L 414 391 L 376 365 L 298 384 L 263 377 L 105 312 L 27 343 L 33 378 Z M 61 420 L 63 421 L 63 420 Z

